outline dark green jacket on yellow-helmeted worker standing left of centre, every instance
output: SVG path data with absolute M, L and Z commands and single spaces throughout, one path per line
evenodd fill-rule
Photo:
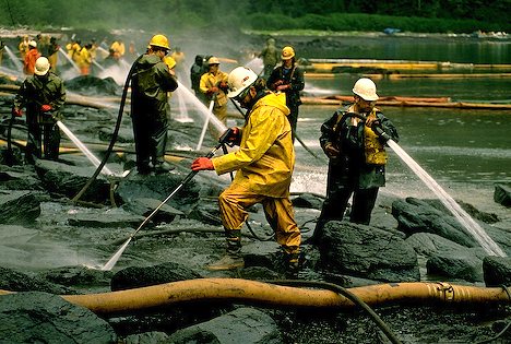
M 131 83 L 131 115 L 167 118 L 168 94 L 178 87 L 167 64 L 155 55 L 135 61 Z

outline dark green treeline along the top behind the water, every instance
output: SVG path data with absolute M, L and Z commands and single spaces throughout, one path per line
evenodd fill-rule
M 381 31 L 509 31 L 511 0 L 2 0 L 1 26 Z

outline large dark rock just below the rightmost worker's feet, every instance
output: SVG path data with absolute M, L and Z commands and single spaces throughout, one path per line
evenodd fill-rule
M 400 236 L 365 225 L 332 221 L 320 240 L 326 270 L 384 281 L 419 281 L 417 256 Z

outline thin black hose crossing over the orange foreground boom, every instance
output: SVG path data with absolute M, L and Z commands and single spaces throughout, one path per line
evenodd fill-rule
M 365 310 L 371 318 L 372 321 L 380 328 L 380 330 L 387 335 L 389 341 L 394 344 L 402 344 L 400 339 L 392 332 L 392 330 L 387 325 L 387 323 L 381 320 L 381 318 L 370 308 L 364 300 L 358 296 L 349 292 L 348 289 L 333 283 L 328 282 L 318 282 L 318 281 L 300 281 L 300 280 L 276 280 L 276 281 L 264 281 L 265 283 L 278 284 L 278 285 L 289 285 L 289 286 L 304 286 L 304 287 L 316 287 L 323 288 L 335 292 L 347 299 L 349 299 L 355 305 L 359 306 Z

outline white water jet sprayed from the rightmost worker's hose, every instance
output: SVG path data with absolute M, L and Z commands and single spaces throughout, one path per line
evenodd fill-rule
M 507 257 L 502 249 L 489 237 L 489 235 L 468 215 L 454 199 L 447 193 L 438 182 L 428 175 L 397 143 L 389 140 L 387 143 L 400 158 L 424 181 L 424 183 L 439 198 L 454 217 L 479 242 L 480 247 L 489 254 Z

